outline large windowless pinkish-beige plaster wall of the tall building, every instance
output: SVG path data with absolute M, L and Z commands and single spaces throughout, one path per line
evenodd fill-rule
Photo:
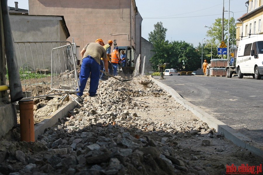
M 118 46 L 136 48 L 135 36 L 140 35 L 135 27 L 135 0 L 29 0 L 29 14 L 63 15 L 71 34 L 68 41 L 74 38 L 80 50 L 97 38 L 105 44 L 116 39 Z

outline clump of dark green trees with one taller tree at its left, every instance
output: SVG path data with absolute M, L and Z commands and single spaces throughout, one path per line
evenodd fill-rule
M 201 55 L 193 44 L 185 41 L 165 41 L 167 29 L 162 26 L 162 22 L 154 25 L 154 31 L 149 33 L 149 41 L 153 44 L 155 55 L 150 58 L 153 69 L 157 70 L 157 65 L 169 63 L 166 68 L 174 68 L 179 71 L 192 71 L 201 65 Z

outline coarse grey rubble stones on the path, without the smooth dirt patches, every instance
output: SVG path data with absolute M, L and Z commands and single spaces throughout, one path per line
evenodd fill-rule
M 37 141 L 6 142 L 8 151 L 1 151 L 5 158 L 0 162 L 0 174 L 208 174 L 174 149 L 182 149 L 179 143 L 184 137 L 204 138 L 200 146 L 211 146 L 210 139 L 223 134 L 215 134 L 199 120 L 160 123 L 142 118 L 138 113 L 147 112 L 148 104 L 134 99 L 170 100 L 171 96 L 150 80 L 139 84 L 138 89 L 133 82 L 100 82 L 98 96 L 84 95 L 82 106 L 47 128 Z M 172 108 L 165 109 L 169 110 Z M 193 155 L 189 159 L 199 158 Z

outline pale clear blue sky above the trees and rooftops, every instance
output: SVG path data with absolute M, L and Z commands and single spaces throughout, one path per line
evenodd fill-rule
M 28 0 L 8 0 L 8 6 L 28 9 Z M 229 0 L 135 0 L 142 21 L 142 37 L 148 40 L 148 33 L 154 30 L 154 24 L 162 22 L 167 28 L 166 39 L 169 41 L 186 41 L 198 46 L 202 39 L 211 39 L 206 31 L 215 19 L 222 18 L 224 10 L 229 10 Z M 230 17 L 237 19 L 247 12 L 247 0 L 230 0 Z M 109 1 L 110 3 L 110 1 Z M 228 12 L 224 13 L 228 19 Z M 227 21 L 225 21 L 227 22 Z M 237 22 L 237 21 L 236 21 Z M 203 40 L 203 42 L 206 41 Z

